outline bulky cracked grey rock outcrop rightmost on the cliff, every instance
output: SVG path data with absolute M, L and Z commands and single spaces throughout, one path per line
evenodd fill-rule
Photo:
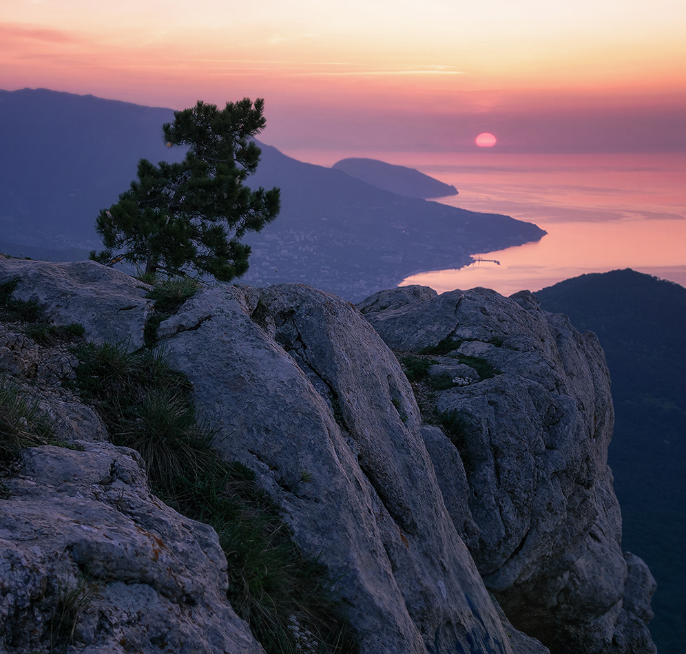
M 459 429 L 442 445 L 434 434 L 428 449 L 455 527 L 512 624 L 553 653 L 653 652 L 654 581 L 621 551 L 610 377 L 595 335 L 526 291 L 397 289 L 359 308 L 392 348 L 419 352 L 450 337 L 461 342 L 455 359 L 498 372 L 437 392 L 438 412 L 455 412 Z

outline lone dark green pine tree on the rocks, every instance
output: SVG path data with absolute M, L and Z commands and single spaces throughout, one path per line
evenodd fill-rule
M 252 191 L 264 128 L 264 101 L 248 98 L 225 109 L 198 101 L 163 126 L 168 147 L 187 146 L 180 163 L 138 162 L 138 179 L 96 221 L 105 249 L 91 258 L 145 264 L 146 275 L 185 275 L 192 269 L 222 282 L 248 269 L 250 247 L 240 242 L 276 218 L 279 189 Z

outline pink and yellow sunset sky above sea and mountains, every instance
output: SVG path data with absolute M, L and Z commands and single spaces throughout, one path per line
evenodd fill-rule
M 0 88 L 265 99 L 280 149 L 686 151 L 684 0 L 2 0 Z

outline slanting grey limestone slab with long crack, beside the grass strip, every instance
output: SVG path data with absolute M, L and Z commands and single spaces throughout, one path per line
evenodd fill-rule
M 340 579 L 363 653 L 511 651 L 409 383 L 351 304 L 296 284 L 204 288 L 158 335 L 217 446 L 256 470 L 302 549 Z

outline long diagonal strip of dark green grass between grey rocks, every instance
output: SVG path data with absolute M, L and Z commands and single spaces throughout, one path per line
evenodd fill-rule
M 77 346 L 76 384 L 96 405 L 116 445 L 138 450 L 155 494 L 214 527 L 229 567 L 228 599 L 268 654 L 357 652 L 326 571 L 306 560 L 280 509 L 240 463 L 212 447 L 198 424 L 191 384 L 160 353 L 123 344 Z M 306 472 L 300 481 L 309 481 Z M 293 620 L 302 629 L 293 629 Z

